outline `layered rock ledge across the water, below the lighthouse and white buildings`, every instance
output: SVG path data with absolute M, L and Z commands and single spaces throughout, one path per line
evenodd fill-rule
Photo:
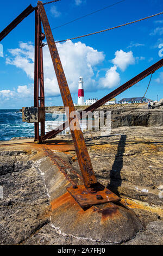
M 138 108 L 138 107 L 139 108 Z M 84 111 L 87 106 L 76 106 L 76 111 Z M 102 106 L 96 110 L 111 112 L 111 127 L 121 126 L 162 126 L 163 101 L 156 103 L 152 109 L 147 109 L 147 104 L 131 104 Z M 65 113 L 64 107 L 46 107 L 46 113 Z

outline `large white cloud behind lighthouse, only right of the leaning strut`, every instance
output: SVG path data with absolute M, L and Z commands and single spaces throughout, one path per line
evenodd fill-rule
M 103 62 L 105 58 L 103 52 L 98 52 L 92 47 L 82 44 L 82 42 L 59 44 L 58 51 L 72 92 L 77 92 L 77 84 L 81 75 L 85 81 L 85 89 L 93 90 L 95 88 L 93 84 L 93 76 L 95 75 L 93 68 Z

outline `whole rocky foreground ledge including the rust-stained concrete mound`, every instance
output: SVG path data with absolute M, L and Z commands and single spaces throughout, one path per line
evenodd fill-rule
M 56 147 L 59 137 L 46 145 L 35 144 L 31 139 L 1 142 L 1 245 L 161 245 L 163 187 L 160 165 L 156 175 L 150 167 L 151 172 L 142 177 L 142 184 L 138 175 L 141 168 L 139 170 L 139 165 L 136 166 L 137 156 L 142 152 L 141 161 L 144 157 L 146 164 L 148 154 L 160 162 L 161 141 L 159 139 L 157 148 L 151 151 L 147 145 L 153 142 L 154 147 L 158 141 L 158 137 L 155 139 L 156 128 L 142 127 L 147 128 L 150 136 L 153 135 L 148 138 L 149 144 L 145 143 L 145 131 L 141 132 L 138 127 L 138 130 L 125 128 L 121 133 L 113 129 L 112 135 L 107 137 L 101 137 L 98 132 L 93 136 L 85 133 L 98 181 L 122 198 L 120 203 L 96 205 L 85 211 L 66 190 L 71 186 L 70 180 L 82 184 L 70 137 L 62 139 L 62 144 L 71 145 L 70 151 L 66 148 L 66 154 L 61 152 L 64 149 L 58 151 Z M 159 129 L 159 135 L 163 134 Z M 133 151 L 129 149 L 130 143 Z M 53 157 L 46 154 L 46 149 L 52 151 Z M 129 173 L 130 160 L 133 161 L 132 168 L 136 168 L 135 176 Z M 126 161 L 128 168 L 123 168 Z M 154 163 L 152 157 L 150 161 Z M 113 172 L 114 169 L 117 173 Z

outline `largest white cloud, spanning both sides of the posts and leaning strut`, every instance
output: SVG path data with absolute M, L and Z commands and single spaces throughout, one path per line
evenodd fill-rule
M 78 80 L 81 75 L 84 78 L 85 90 L 95 90 L 96 84 L 93 77 L 96 74 L 93 69 L 96 65 L 103 62 L 105 58 L 104 53 L 98 52 L 92 47 L 82 44 L 82 42 L 74 44 L 72 41 L 67 41 L 64 44 L 57 44 L 57 48 L 71 93 L 77 93 Z M 21 68 L 26 72 L 28 77 L 34 79 L 34 46 L 21 42 L 20 48 L 10 49 L 9 53 L 11 56 L 7 58 L 7 64 Z M 52 59 L 47 46 L 43 48 L 43 66 L 46 95 L 60 95 Z M 28 88 L 24 89 L 28 91 Z

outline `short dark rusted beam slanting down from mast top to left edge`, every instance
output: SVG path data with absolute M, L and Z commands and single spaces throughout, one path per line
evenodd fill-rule
M 5 36 L 7 36 L 12 29 L 14 29 L 22 20 L 24 20 L 29 14 L 34 11 L 34 7 L 30 4 L 20 15 L 16 17 L 14 21 L 12 21 L 1 33 L 0 33 L 0 41 L 2 41 Z

